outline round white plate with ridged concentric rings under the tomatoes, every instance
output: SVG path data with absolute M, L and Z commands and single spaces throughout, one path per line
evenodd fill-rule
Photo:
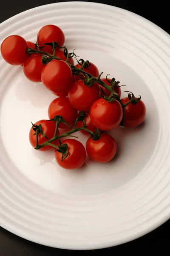
M 31 121 L 48 118 L 54 99 L 0 57 L 0 224 L 28 240 L 66 249 L 121 244 L 170 217 L 170 36 L 138 15 L 98 3 L 40 6 L 0 24 L 0 42 L 35 41 L 45 24 L 69 50 L 127 84 L 147 108 L 143 125 L 115 129 L 118 154 L 107 164 L 59 168 L 53 152 L 31 148 Z M 86 138 L 81 137 L 85 143 Z

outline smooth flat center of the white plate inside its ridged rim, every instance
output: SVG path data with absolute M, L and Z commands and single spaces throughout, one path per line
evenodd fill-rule
M 157 108 L 149 87 L 127 64 L 106 52 L 78 49 L 77 55 L 92 61 L 105 75 L 110 73 L 111 77 L 119 79 L 121 85 L 126 84 L 122 91 L 140 94 L 147 108 L 146 119 L 139 127 L 116 128 L 109 132 L 118 146 L 112 161 L 94 163 L 87 157 L 80 169 L 65 170 L 55 162 L 54 152 L 31 148 L 28 140 L 31 121 L 48 119 L 48 105 L 55 97 L 42 84 L 28 81 L 21 67 L 10 67 L 11 72 L 16 72 L 6 81 L 6 90 L 1 95 L 0 131 L 9 159 L 17 166 L 15 175 L 22 173 L 38 186 L 64 195 L 96 195 L 123 186 L 142 172 L 156 146 L 159 120 L 158 115 L 154 118 L 152 115 Z M 127 93 L 122 93 L 122 97 L 125 95 Z M 79 134 L 79 139 L 85 145 L 87 137 Z

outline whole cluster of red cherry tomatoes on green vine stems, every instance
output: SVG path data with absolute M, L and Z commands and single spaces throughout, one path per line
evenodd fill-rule
M 120 99 L 119 83 L 115 84 L 114 79 L 100 79 L 99 70 L 93 63 L 81 60 L 74 66 L 74 53 L 68 54 L 66 48 L 63 48 L 64 42 L 65 35 L 59 27 L 46 25 L 38 32 L 36 44 L 19 35 L 11 35 L 1 44 L 1 54 L 6 62 L 22 65 L 29 80 L 42 82 L 57 96 L 48 107 L 49 119 L 62 116 L 65 121 L 59 123 L 56 134 L 55 119 L 36 122 L 29 133 L 30 143 L 36 148 L 38 141 L 38 145 L 43 145 L 39 149 L 42 151 L 55 148 L 57 163 L 65 169 L 82 166 L 86 151 L 92 160 L 108 162 L 116 154 L 116 142 L 104 131 L 116 128 L 122 120 L 128 128 L 140 125 L 146 114 L 145 105 L 142 100 L 135 98 L 133 93 Z M 108 87 L 112 90 L 108 90 Z M 80 111 L 85 112 L 85 118 L 76 122 L 76 127 L 73 128 Z M 86 150 L 78 140 L 59 140 L 62 137 L 61 131 L 65 134 L 63 137 L 68 136 L 65 132 L 68 126 L 65 123 L 72 127 L 70 129 L 73 131 L 80 127 L 85 128 L 80 132 L 88 136 Z M 36 134 L 37 129 L 39 132 Z M 57 139 L 48 143 L 54 138 L 54 134 Z M 68 155 L 64 160 L 61 145 L 67 145 Z

